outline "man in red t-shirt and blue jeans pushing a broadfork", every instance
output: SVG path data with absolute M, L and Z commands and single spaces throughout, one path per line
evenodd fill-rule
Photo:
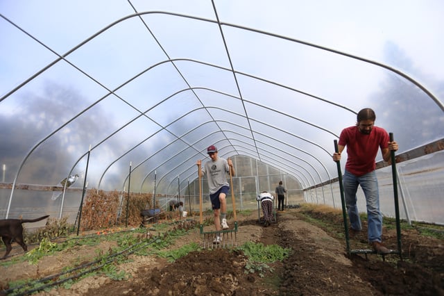
M 376 178 L 378 149 L 381 149 L 384 161 L 390 161 L 390 151 L 398 150 L 398 143 L 390 142 L 388 133 L 377 126 L 375 112 L 364 108 L 357 115 L 357 124 L 343 129 L 339 136 L 338 153 L 333 154 L 334 161 L 341 161 L 341 152 L 347 146 L 347 163 L 343 175 L 345 204 L 350 218 L 350 233 L 361 231 L 361 219 L 357 208 L 357 188 L 364 191 L 367 204 L 368 242 L 378 254 L 390 251 L 382 245 L 382 214 L 379 211 L 379 188 Z

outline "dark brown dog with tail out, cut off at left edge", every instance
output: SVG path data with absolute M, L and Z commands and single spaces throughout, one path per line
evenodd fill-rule
M 37 218 L 37 219 L 3 219 L 0 220 L 0 236 L 3 242 L 6 245 L 6 254 L 0 258 L 4 259 L 8 256 L 9 252 L 11 252 L 12 240 L 17 242 L 17 244 L 21 245 L 24 249 L 24 252 L 28 252 L 28 247 L 26 246 L 23 240 L 23 226 L 22 223 L 32 223 L 40 220 L 44 220 L 49 215 Z

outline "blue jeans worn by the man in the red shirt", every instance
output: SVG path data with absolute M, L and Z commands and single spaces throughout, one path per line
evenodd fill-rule
M 358 186 L 361 185 L 367 204 L 368 242 L 381 242 L 382 214 L 379 211 L 379 188 L 377 186 L 376 172 L 369 172 L 364 174 L 364 176 L 355 176 L 345 170 L 342 181 L 350 227 L 355 230 L 361 230 L 362 228 L 356 204 L 356 192 Z

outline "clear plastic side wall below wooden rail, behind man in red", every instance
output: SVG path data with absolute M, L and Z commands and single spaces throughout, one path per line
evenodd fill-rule
M 405 161 L 397 165 L 398 170 L 398 205 L 401 219 L 422 221 L 444 225 L 443 179 L 444 152 L 438 151 Z M 337 174 L 336 174 L 337 176 Z M 393 175 L 391 167 L 377 170 L 379 183 L 379 202 L 382 215 L 395 217 L 395 198 L 393 192 Z M 330 189 L 330 186 L 328 186 Z M 325 187 L 327 189 L 327 187 Z M 330 191 L 325 190 L 325 204 L 341 208 L 339 184 L 333 183 L 333 198 Z M 366 211 L 366 199 L 362 190 L 358 190 L 359 211 Z M 306 202 L 320 203 L 313 199 Z

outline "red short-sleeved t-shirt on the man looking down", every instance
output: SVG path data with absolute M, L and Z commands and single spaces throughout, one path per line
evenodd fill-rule
M 347 146 L 345 170 L 355 176 L 362 176 L 376 169 L 375 158 L 378 149 L 388 147 L 390 138 L 385 129 L 373 126 L 370 135 L 361 133 L 357 126 L 350 126 L 341 131 L 338 145 Z

